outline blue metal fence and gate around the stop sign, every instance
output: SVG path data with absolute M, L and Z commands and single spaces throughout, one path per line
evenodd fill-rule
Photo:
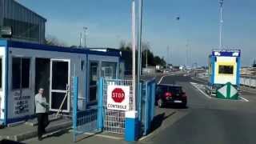
M 78 78 L 73 78 L 71 91 L 73 96 L 74 142 L 78 141 L 78 136 L 86 132 L 101 132 L 102 130 L 105 130 L 117 133 L 116 130 L 124 129 L 124 112 L 122 112 L 123 114 L 121 114 L 121 112 L 117 113 L 110 110 L 107 113 L 106 110 L 106 86 L 111 82 L 110 80 L 106 81 L 103 78 L 100 78 L 97 85 L 98 106 L 86 110 L 78 110 Z M 114 84 L 131 86 L 131 82 L 132 81 L 126 82 L 123 80 L 115 80 Z M 138 106 L 138 120 L 140 122 L 141 128 L 140 134 L 142 135 L 150 133 L 150 128 L 152 124 L 151 122 L 154 118 L 155 86 L 156 83 L 154 79 L 146 82 L 141 82 L 138 86 L 140 93 L 138 94 L 138 100 L 136 102 Z M 132 101 L 130 101 L 130 104 L 131 103 Z M 114 125 L 111 122 L 114 122 Z M 119 131 L 118 133 L 122 134 L 122 132 Z

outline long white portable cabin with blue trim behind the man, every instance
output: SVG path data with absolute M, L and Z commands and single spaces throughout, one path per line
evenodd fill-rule
M 0 125 L 33 117 L 34 95 L 44 88 L 50 111 L 72 109 L 69 89 L 78 77 L 78 109 L 97 102 L 100 76 L 118 78 L 120 53 L 0 40 Z

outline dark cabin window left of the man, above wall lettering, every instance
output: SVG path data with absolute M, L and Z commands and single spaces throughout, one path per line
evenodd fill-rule
M 12 58 L 12 88 L 30 87 L 30 58 Z

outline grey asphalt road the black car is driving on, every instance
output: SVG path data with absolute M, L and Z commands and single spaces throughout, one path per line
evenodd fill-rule
M 246 95 L 250 102 L 207 98 L 189 82 L 195 81 L 190 77 L 182 76 L 162 79 L 162 83 L 175 83 L 183 86 L 188 96 L 188 108 L 174 109 L 177 114 L 174 114 L 172 118 L 180 113 L 183 116 L 153 138 L 147 139 L 146 143 L 256 143 L 255 94 Z

